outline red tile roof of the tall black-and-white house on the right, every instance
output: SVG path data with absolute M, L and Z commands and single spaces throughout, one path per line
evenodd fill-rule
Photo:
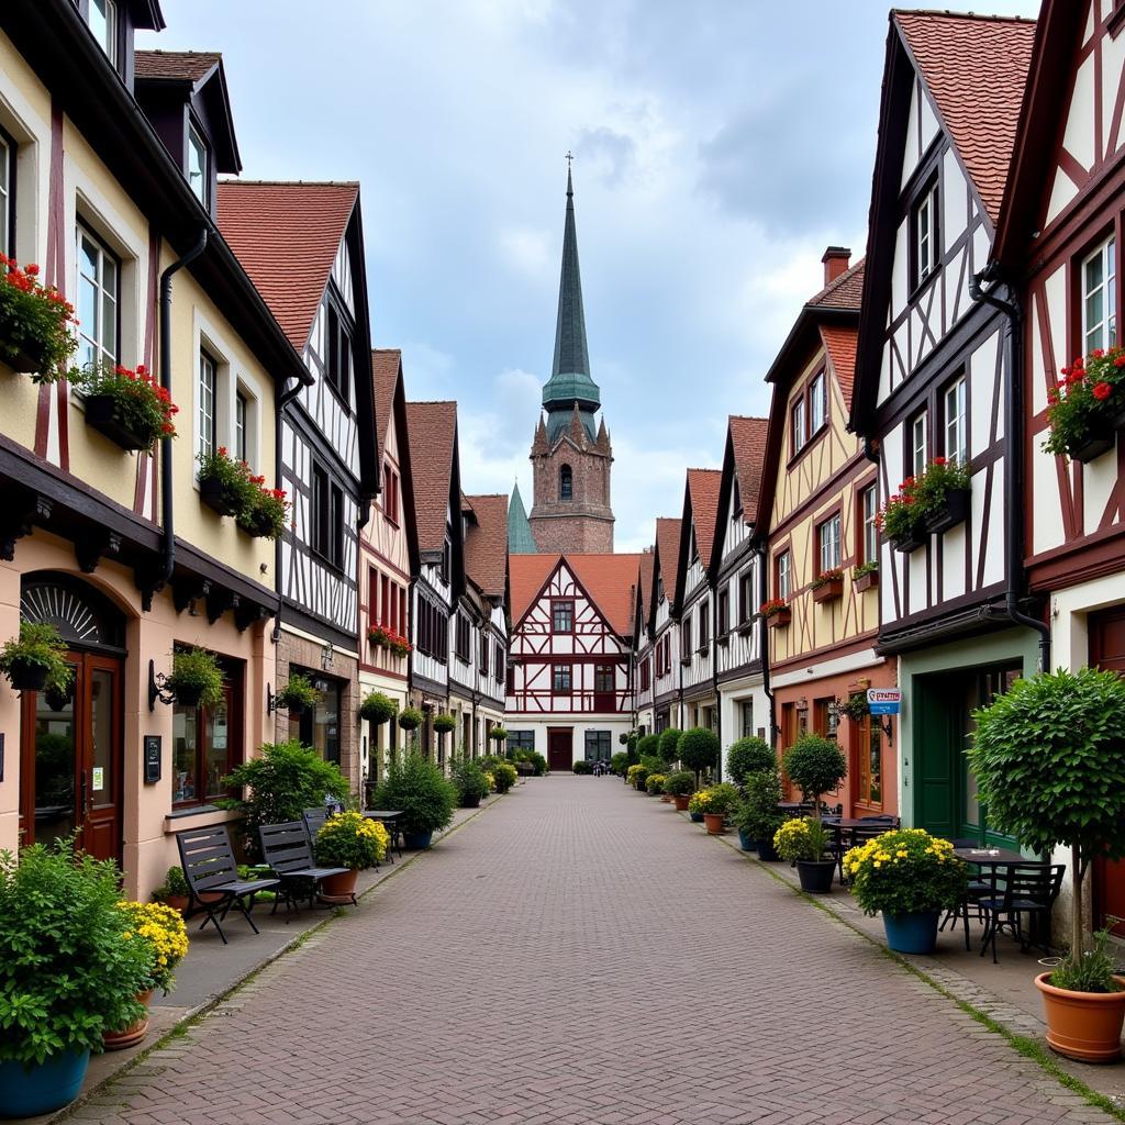
M 893 17 L 994 226 L 1035 21 L 946 11 L 896 11 Z

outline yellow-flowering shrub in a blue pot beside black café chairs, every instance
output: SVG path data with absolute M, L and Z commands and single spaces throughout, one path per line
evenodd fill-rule
M 965 865 L 953 845 L 922 828 L 896 828 L 844 855 L 844 875 L 865 915 L 882 914 L 898 953 L 933 953 L 937 924 L 965 893 Z

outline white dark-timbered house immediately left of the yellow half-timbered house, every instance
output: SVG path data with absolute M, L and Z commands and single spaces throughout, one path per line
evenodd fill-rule
M 767 418 L 732 415 L 727 424 L 719 501 L 711 548 L 714 588 L 714 670 L 723 748 L 756 735 L 773 741 L 773 719 L 762 666 L 766 623 L 758 606 L 764 543 L 756 536 Z

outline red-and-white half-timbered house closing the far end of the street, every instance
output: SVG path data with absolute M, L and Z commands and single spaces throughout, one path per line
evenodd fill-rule
M 512 555 L 508 747 L 551 770 L 608 762 L 632 727 L 639 555 Z

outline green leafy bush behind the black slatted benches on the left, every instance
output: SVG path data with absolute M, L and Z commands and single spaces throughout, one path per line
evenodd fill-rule
M 260 757 L 242 762 L 223 778 L 224 783 L 243 790 L 240 800 L 224 798 L 215 803 L 235 809 L 243 816 L 246 854 L 259 858 L 258 829 L 261 825 L 279 825 L 300 820 L 305 809 L 320 808 L 325 796 L 344 801 L 349 795 L 348 778 L 334 762 L 324 758 L 296 739 L 267 742 Z M 381 806 L 397 809 L 397 804 Z

